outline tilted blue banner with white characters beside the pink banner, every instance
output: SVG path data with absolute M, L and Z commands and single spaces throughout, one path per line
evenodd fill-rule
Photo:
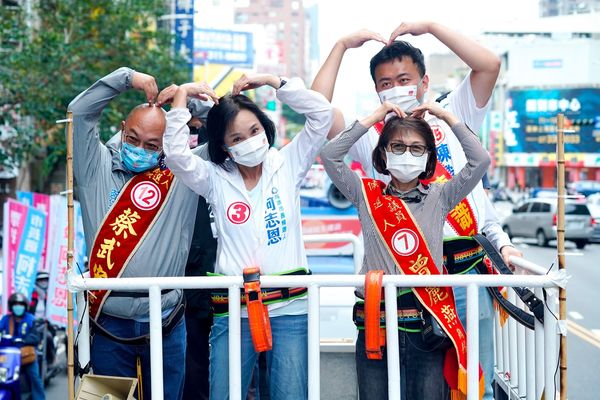
M 13 279 L 12 282 L 8 280 L 7 296 L 14 291 L 31 299 L 44 247 L 46 213 L 30 206 L 26 207 L 27 217 L 15 258 Z

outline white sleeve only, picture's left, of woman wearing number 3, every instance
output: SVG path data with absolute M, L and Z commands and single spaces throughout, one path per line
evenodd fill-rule
M 173 108 L 167 113 L 163 137 L 165 163 L 186 186 L 210 202 L 213 166 L 190 150 L 187 122 L 191 117 L 187 108 Z

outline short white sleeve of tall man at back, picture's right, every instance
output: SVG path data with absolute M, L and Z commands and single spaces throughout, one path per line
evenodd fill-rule
M 485 114 L 490 108 L 491 96 L 487 104 L 483 107 L 477 107 L 473 89 L 471 87 L 471 73 L 467 74 L 465 79 L 454 89 L 448 97 L 442 101 L 442 106 L 448 107 L 458 119 L 475 133 L 479 133 Z

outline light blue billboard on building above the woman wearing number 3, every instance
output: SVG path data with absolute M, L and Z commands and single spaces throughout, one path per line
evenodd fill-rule
M 194 64 L 209 62 L 240 68 L 253 67 L 252 33 L 196 29 L 194 36 Z

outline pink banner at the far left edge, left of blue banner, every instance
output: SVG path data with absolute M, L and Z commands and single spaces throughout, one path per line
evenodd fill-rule
M 8 297 L 12 293 L 13 270 L 27 221 L 28 207 L 16 200 L 4 203 L 3 250 L 2 250 L 2 313 L 5 313 Z

